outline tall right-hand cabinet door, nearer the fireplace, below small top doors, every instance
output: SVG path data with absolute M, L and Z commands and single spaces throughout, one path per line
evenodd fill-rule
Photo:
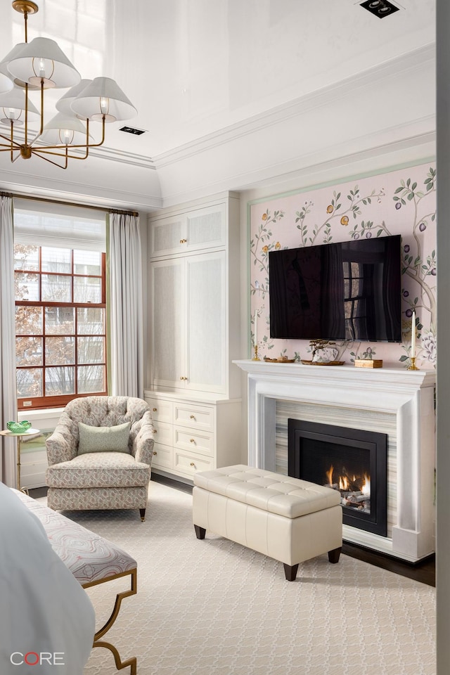
M 186 388 L 226 393 L 225 252 L 186 258 Z

